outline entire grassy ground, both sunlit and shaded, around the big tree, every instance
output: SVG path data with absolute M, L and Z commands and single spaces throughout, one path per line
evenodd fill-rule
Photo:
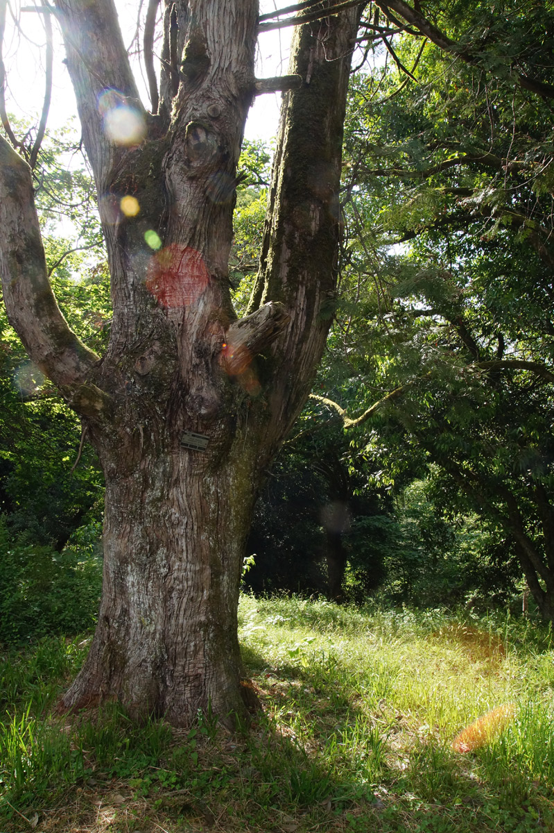
M 0 833 L 554 831 L 551 631 L 441 611 L 243 598 L 249 734 L 52 716 L 87 640 L 0 659 Z M 462 754 L 464 726 L 512 704 Z

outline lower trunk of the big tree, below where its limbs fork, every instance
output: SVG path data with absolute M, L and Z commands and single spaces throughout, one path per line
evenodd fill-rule
M 237 601 L 255 466 L 242 437 L 210 465 L 205 453 L 171 448 L 160 427 L 156 442 L 151 427 L 121 426 L 101 445 L 101 609 L 66 703 L 107 694 L 183 725 L 209 704 L 223 718 L 240 713 L 250 691 L 240 686 Z

